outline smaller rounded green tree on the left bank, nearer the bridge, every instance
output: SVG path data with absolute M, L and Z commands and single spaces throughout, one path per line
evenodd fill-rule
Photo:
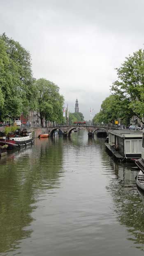
M 53 82 L 40 78 L 35 82 L 37 88 L 37 109 L 40 113 L 41 124 L 46 122 L 63 120 L 64 98 L 59 93 L 59 87 Z

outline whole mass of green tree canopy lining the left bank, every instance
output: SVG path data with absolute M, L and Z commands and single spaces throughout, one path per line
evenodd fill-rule
M 41 124 L 43 119 L 61 122 L 63 101 L 57 85 L 33 78 L 30 53 L 5 33 L 0 35 L 0 120 L 38 110 Z

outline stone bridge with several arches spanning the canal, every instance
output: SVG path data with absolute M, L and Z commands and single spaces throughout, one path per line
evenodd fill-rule
M 89 137 L 93 137 L 95 132 L 106 132 L 109 129 L 118 130 L 118 127 L 115 125 L 108 125 L 108 124 L 102 124 L 102 125 L 58 125 L 53 127 L 33 127 L 32 129 L 35 132 L 35 137 L 38 137 L 39 134 L 48 133 L 49 136 L 53 136 L 54 132 L 58 129 L 63 133 L 63 136 L 70 136 L 71 132 L 77 128 L 84 129 Z

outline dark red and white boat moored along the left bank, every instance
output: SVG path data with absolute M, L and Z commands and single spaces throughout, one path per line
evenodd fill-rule
M 33 143 L 32 132 L 21 131 L 17 134 L 9 134 L 0 137 L 0 146 L 7 145 L 7 149 L 15 149 Z

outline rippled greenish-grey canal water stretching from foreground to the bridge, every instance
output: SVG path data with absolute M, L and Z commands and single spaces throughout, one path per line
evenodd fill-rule
M 0 256 L 143 255 L 137 171 L 105 139 L 35 139 L 0 160 Z

